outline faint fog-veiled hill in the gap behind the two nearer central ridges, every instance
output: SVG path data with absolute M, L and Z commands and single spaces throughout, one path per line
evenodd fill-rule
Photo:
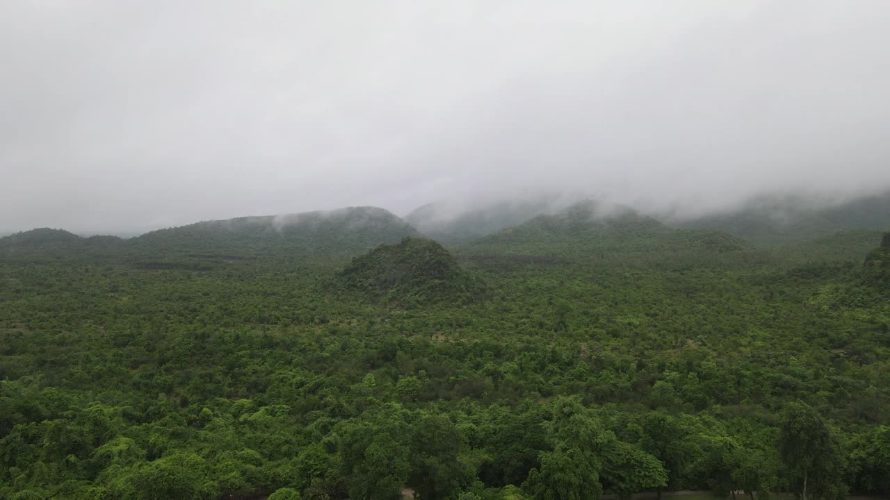
M 550 206 L 544 198 L 501 201 L 471 209 L 430 203 L 419 206 L 405 220 L 421 233 L 444 244 L 466 243 L 543 214 Z

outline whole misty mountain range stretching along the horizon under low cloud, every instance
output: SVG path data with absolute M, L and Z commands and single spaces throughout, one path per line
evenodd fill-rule
M 5 255 L 124 254 L 190 258 L 263 254 L 355 255 L 420 235 L 449 246 L 512 254 L 578 254 L 848 241 L 857 250 L 890 228 L 890 193 L 834 206 L 804 198 L 762 197 L 723 214 L 677 219 L 593 200 L 554 209 L 554 200 L 498 202 L 467 210 L 420 206 L 404 219 L 374 206 L 328 212 L 239 217 L 154 230 L 135 238 L 83 238 L 66 230 L 28 230 L 0 238 Z M 837 236 L 837 235 L 841 236 Z M 843 236 L 847 234 L 848 236 Z M 857 243 L 859 242 L 859 243 Z

